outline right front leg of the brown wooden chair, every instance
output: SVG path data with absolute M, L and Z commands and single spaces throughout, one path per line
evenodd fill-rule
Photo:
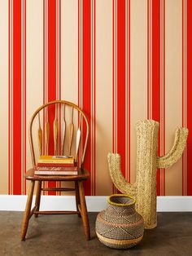
M 89 218 L 87 214 L 83 183 L 79 181 L 78 185 L 79 185 L 79 193 L 80 193 L 81 217 L 82 217 L 84 232 L 85 232 L 86 239 L 90 240 Z

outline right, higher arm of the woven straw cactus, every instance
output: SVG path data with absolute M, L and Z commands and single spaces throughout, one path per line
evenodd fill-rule
M 184 151 L 188 130 L 177 128 L 172 149 L 163 157 L 157 158 L 157 168 L 168 168 L 178 161 Z

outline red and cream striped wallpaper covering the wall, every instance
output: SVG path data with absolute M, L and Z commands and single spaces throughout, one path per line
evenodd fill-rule
M 89 118 L 86 195 L 116 191 L 107 152 L 134 182 L 139 119 L 159 121 L 159 155 L 177 126 L 192 129 L 191 31 L 190 0 L 0 0 L 0 194 L 26 193 L 28 121 L 53 99 Z M 189 134 L 182 159 L 158 170 L 158 195 L 192 195 L 191 154 Z

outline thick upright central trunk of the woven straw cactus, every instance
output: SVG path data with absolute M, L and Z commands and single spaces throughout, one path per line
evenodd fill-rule
M 145 228 L 156 226 L 156 158 L 159 124 L 137 123 L 137 204 Z

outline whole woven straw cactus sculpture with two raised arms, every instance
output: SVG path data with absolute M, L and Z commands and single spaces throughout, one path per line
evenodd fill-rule
M 120 155 L 108 154 L 108 165 L 113 183 L 120 192 L 137 199 L 136 208 L 144 218 L 145 228 L 154 228 L 156 218 L 156 170 L 168 168 L 181 157 L 188 135 L 186 128 L 177 128 L 172 149 L 163 157 L 157 156 L 159 123 L 153 120 L 138 121 L 137 179 L 128 183 L 120 170 Z

